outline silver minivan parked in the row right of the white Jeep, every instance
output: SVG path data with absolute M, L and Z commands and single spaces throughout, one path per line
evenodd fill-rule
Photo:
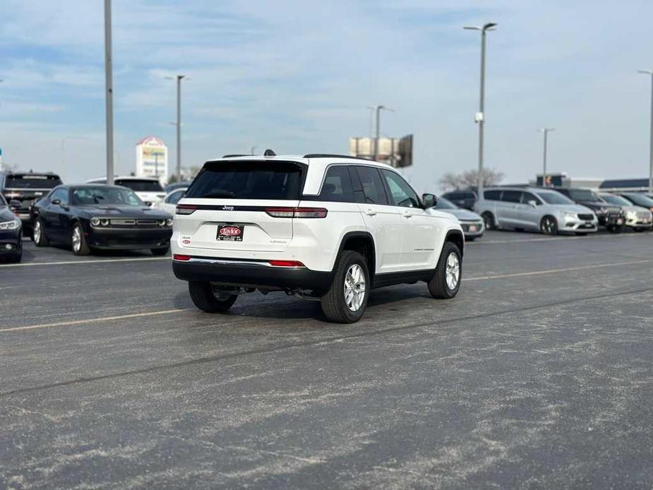
M 539 230 L 544 234 L 587 234 L 597 231 L 599 222 L 592 210 L 568 197 L 539 187 L 493 187 L 483 192 L 477 213 L 486 229 Z

